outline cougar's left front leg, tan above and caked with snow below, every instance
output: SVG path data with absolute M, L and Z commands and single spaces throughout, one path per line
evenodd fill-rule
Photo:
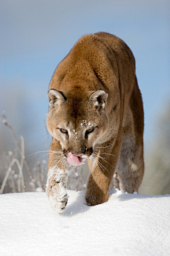
M 49 150 L 47 196 L 57 213 L 62 213 L 67 205 L 67 164 L 60 142 L 52 139 Z

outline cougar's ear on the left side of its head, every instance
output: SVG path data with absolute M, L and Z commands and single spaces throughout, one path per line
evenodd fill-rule
M 49 99 L 49 105 L 50 108 L 52 109 L 53 107 L 60 105 L 62 103 L 64 103 L 67 98 L 64 97 L 64 95 L 62 94 L 62 92 L 59 92 L 55 89 L 51 89 L 48 93 L 47 93 L 47 97 Z

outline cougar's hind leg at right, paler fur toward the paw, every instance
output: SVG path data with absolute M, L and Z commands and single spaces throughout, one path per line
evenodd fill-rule
M 135 78 L 129 107 L 123 121 L 123 144 L 118 161 L 120 189 L 124 192 L 138 191 L 142 182 L 144 174 L 143 131 L 142 96 Z

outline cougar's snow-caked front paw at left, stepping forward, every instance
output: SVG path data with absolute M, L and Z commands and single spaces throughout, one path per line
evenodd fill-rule
M 52 167 L 47 175 L 47 196 L 50 204 L 57 213 L 62 213 L 67 206 L 67 172 Z

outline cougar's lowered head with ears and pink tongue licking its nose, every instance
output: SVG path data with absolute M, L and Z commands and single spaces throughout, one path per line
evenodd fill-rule
M 62 146 L 69 164 L 77 166 L 91 156 L 94 145 L 108 130 L 105 111 L 108 94 L 50 90 L 47 129 Z

